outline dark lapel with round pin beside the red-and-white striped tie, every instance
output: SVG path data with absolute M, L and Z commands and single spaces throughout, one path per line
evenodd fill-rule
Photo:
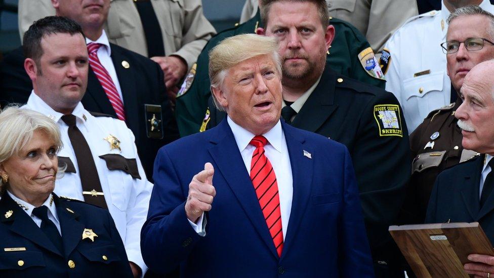
M 139 118 L 135 113 L 139 108 L 139 101 L 136 88 L 135 70 L 130 65 L 129 68 L 122 66 L 123 61 L 129 61 L 121 50 L 113 44 L 111 47 L 111 60 L 115 67 L 116 76 L 118 77 L 118 83 L 120 84 L 120 90 L 122 91 L 123 107 L 125 107 L 125 116 L 127 125 L 131 130 L 139 130 Z

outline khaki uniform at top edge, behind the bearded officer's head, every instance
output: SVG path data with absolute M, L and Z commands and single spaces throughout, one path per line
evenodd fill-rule
M 330 16 L 350 22 L 380 53 L 388 38 L 408 18 L 419 14 L 415 0 L 326 0 Z M 247 0 L 240 22 L 254 17 L 258 0 Z

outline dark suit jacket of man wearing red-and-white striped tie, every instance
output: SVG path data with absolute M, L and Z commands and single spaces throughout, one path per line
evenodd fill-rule
M 166 89 L 163 82 L 163 71 L 152 60 L 130 50 L 110 44 L 111 59 L 123 97 L 126 124 L 136 137 L 137 151 L 148 179 L 152 177 L 154 158 L 158 149 L 178 138 L 177 124 L 171 111 Z M 32 82 L 24 70 L 24 55 L 18 48 L 5 56 L 0 63 L 0 105 L 9 102 L 26 103 L 32 91 Z M 122 63 L 129 65 L 125 68 Z M 88 88 L 81 100 L 84 107 L 91 112 L 99 112 L 116 117 L 96 74 L 89 67 Z M 152 113 L 146 113 L 144 105 L 161 106 L 161 117 L 164 137 L 148 138 L 148 130 Z M 146 119 L 147 114 L 147 119 Z

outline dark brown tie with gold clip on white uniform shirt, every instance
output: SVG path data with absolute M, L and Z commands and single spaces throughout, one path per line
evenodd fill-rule
M 79 177 L 80 183 L 83 186 L 84 201 L 107 209 L 105 196 L 101 194 L 103 189 L 101 189 L 100 178 L 98 176 L 98 170 L 96 170 L 93 155 L 91 154 L 91 149 L 89 148 L 84 135 L 75 125 L 75 116 L 63 115 L 62 121 L 69 126 L 68 135 L 79 168 Z M 89 192 L 94 192 L 94 194 Z M 98 192 L 100 194 L 98 194 Z

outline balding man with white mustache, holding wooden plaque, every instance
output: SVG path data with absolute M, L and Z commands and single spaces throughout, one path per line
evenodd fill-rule
M 482 62 L 466 75 L 462 105 L 455 116 L 462 128 L 463 147 L 482 155 L 444 170 L 436 179 L 426 223 L 479 222 L 494 243 L 494 61 Z M 475 277 L 494 273 L 494 257 L 470 254 L 465 271 Z

